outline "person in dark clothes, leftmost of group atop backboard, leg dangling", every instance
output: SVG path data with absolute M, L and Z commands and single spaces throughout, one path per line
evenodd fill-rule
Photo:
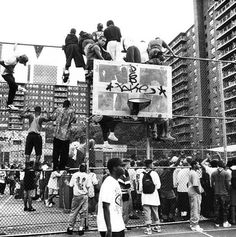
M 67 82 L 67 80 L 69 79 L 69 68 L 71 66 L 72 59 L 74 59 L 76 67 L 85 68 L 84 58 L 79 50 L 79 41 L 75 34 L 76 29 L 72 28 L 70 30 L 70 33 L 66 36 L 65 46 L 63 47 L 66 55 L 66 65 L 65 65 L 65 71 L 63 73 L 64 82 Z

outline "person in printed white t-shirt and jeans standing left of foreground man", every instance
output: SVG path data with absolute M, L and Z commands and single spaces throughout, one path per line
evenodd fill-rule
M 72 175 L 69 183 L 67 180 L 65 182 L 73 188 L 73 199 L 67 233 L 70 235 L 73 234 L 76 218 L 79 215 L 79 235 L 83 235 L 85 218 L 87 217 L 88 210 L 88 190 L 92 188 L 91 180 L 86 173 L 85 164 L 80 165 L 79 171 Z

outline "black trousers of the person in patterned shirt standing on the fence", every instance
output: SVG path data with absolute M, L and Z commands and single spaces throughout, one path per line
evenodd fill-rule
M 64 170 L 65 166 L 69 160 L 69 145 L 70 141 L 62 141 L 54 137 L 53 139 L 53 169 L 59 168 L 60 170 Z M 60 161 L 59 161 L 60 158 Z

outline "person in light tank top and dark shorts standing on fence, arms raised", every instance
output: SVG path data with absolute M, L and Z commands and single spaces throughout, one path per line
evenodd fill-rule
M 28 119 L 29 120 L 29 129 L 28 129 L 28 135 L 26 137 L 25 142 L 25 162 L 30 161 L 30 155 L 33 150 L 35 149 L 36 154 L 36 162 L 35 166 L 38 166 L 36 168 L 39 168 L 39 162 L 42 155 L 42 136 L 40 135 L 40 132 L 42 130 L 42 124 L 44 122 L 50 121 L 49 117 L 44 117 L 41 115 L 41 107 L 36 106 L 34 108 L 34 113 L 28 113 L 30 109 L 26 109 L 20 114 L 20 117 L 22 119 Z

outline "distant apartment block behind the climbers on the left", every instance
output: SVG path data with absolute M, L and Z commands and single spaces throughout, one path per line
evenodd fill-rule
M 43 114 L 53 112 L 57 107 L 62 106 L 64 100 L 69 99 L 75 109 L 78 122 L 84 121 L 86 117 L 86 83 L 78 82 L 77 86 L 48 85 L 48 84 L 24 84 L 21 86 L 27 89 L 27 93 L 17 91 L 14 105 L 23 108 L 30 108 L 33 112 L 35 106 L 42 107 Z M 6 104 L 8 85 L 0 83 L 0 108 Z M 20 119 L 18 111 L 0 110 L 1 130 L 26 130 L 28 122 Z

